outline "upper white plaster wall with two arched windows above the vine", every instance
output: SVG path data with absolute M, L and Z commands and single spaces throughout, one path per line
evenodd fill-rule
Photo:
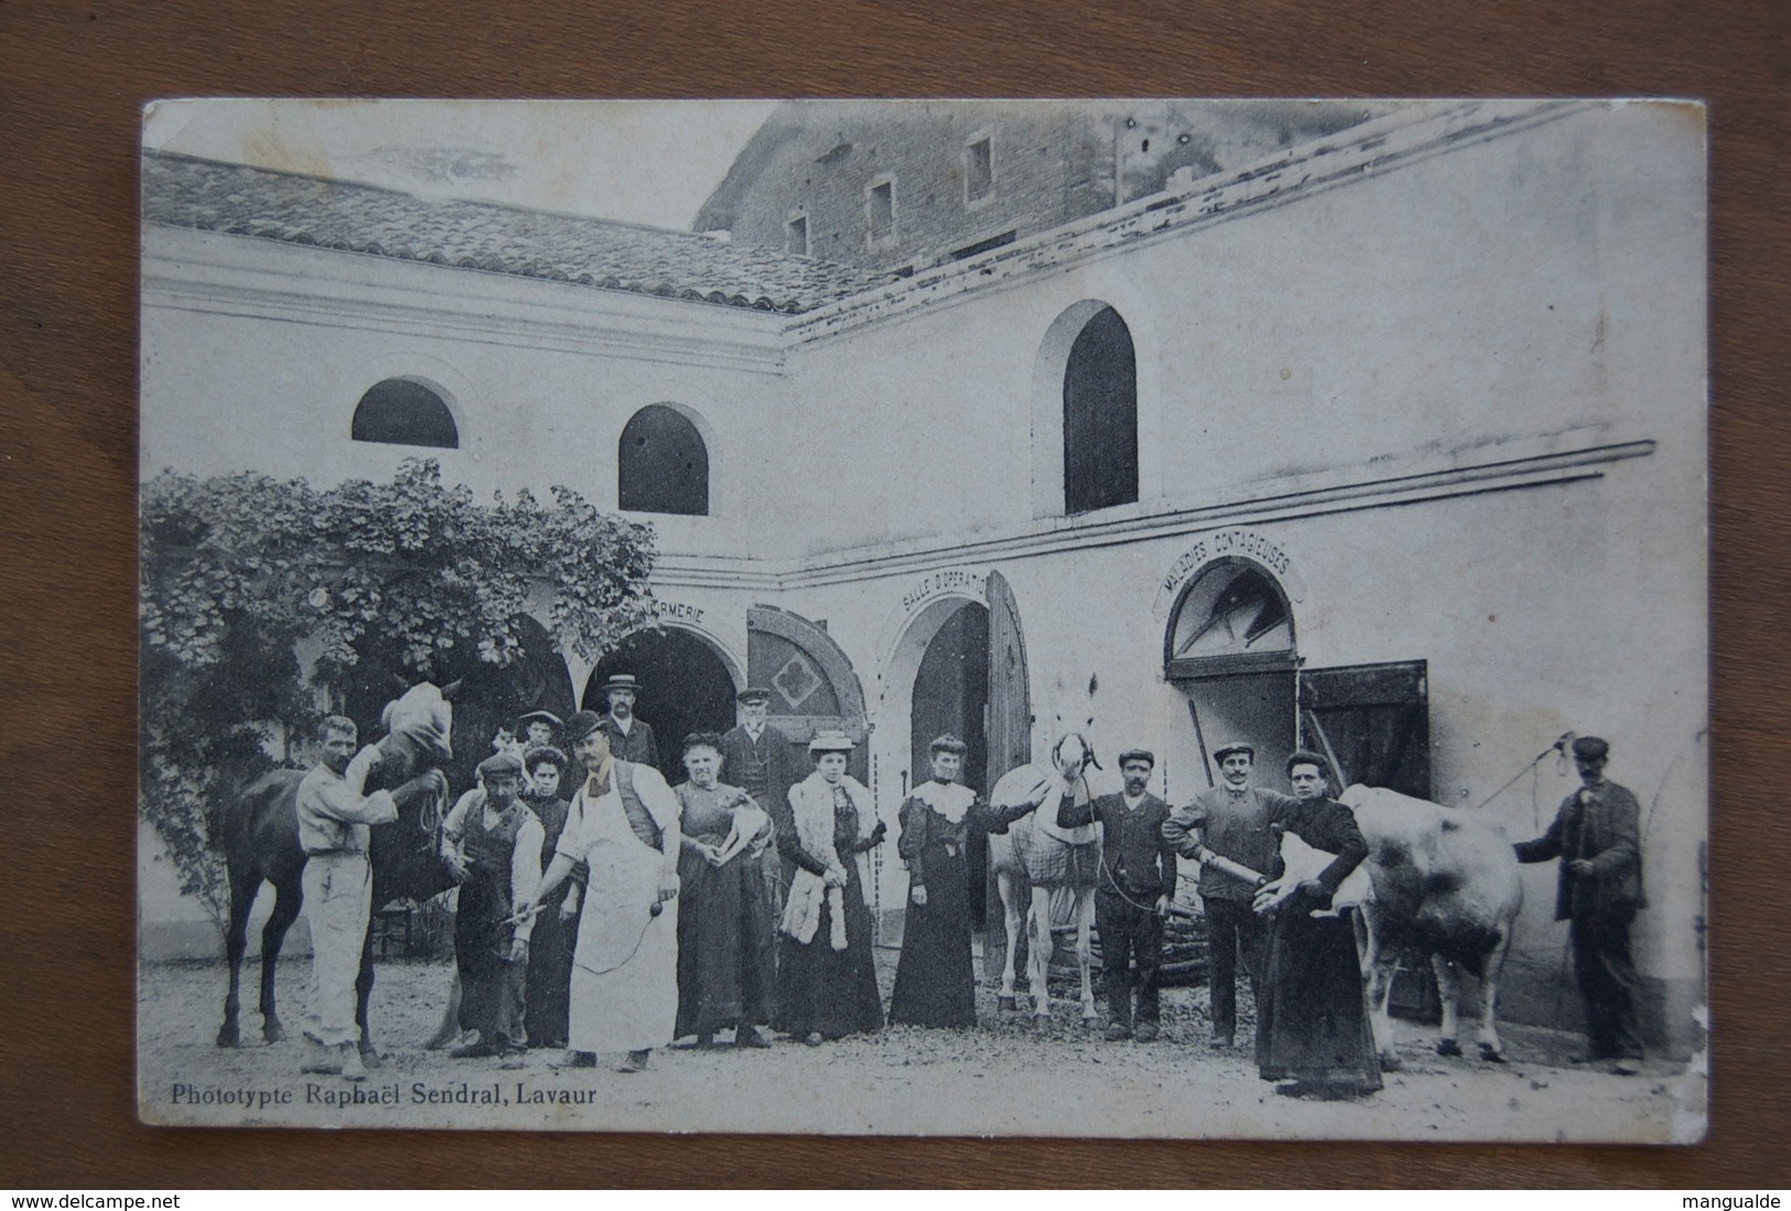
M 145 244 L 145 477 L 253 468 L 330 484 L 430 457 L 482 496 L 564 484 L 614 511 L 621 426 L 673 403 L 709 446 L 711 516 L 627 516 L 652 521 L 666 554 L 767 554 L 750 552 L 767 530 L 745 521 L 758 471 L 784 455 L 776 317 L 240 236 L 150 229 Z M 267 292 L 206 292 L 213 262 L 301 274 L 304 319 Z M 399 287 L 435 310 L 407 313 L 389 297 Z M 595 313 L 571 310 L 591 296 Z M 532 326 L 543 315 L 562 331 Z M 385 378 L 435 389 L 458 450 L 351 441 L 356 403 Z

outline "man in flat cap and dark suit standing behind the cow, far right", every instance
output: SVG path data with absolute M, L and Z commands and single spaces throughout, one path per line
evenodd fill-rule
M 1574 975 L 1585 1001 L 1587 1061 L 1612 1071 L 1641 1071 L 1635 1026 L 1635 964 L 1630 923 L 1642 906 L 1641 808 L 1628 788 L 1605 779 L 1610 745 L 1598 736 L 1572 742 L 1580 790 L 1562 799 L 1549 829 L 1512 846 L 1519 862 L 1560 858 L 1555 919 L 1567 921 Z

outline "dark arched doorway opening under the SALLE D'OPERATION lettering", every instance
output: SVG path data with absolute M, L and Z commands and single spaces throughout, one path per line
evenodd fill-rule
M 910 781 L 917 786 L 931 777 L 928 745 L 935 736 L 953 733 L 969 752 L 964 754 L 964 785 L 989 794 L 989 607 L 965 600 L 933 632 L 913 677 L 908 708 Z M 973 833 L 967 844 L 971 863 L 971 924 L 985 924 L 985 883 L 989 840 Z

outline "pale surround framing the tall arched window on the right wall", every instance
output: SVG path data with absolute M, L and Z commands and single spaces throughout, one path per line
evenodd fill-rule
M 1137 392 L 1137 503 L 1148 509 L 1164 493 L 1162 468 L 1162 330 L 1161 301 L 1152 301 L 1107 260 L 1066 274 L 1055 285 L 1051 319 L 1039 330 L 1032 365 L 1032 516 L 1064 514 L 1064 371 L 1076 337 L 1103 308 L 1112 308 L 1132 337 Z

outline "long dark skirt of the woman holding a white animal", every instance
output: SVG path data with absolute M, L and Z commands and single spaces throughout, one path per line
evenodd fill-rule
M 1354 914 L 1275 917 L 1255 1009 L 1255 1066 L 1263 1080 L 1381 1087 Z

